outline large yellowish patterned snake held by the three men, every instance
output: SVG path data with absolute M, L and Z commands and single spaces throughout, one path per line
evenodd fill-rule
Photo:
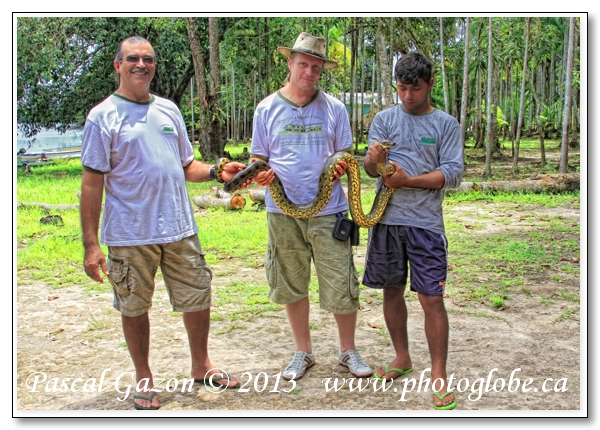
M 381 142 L 381 146 L 384 149 L 391 148 L 394 145 L 395 143 L 389 140 L 384 140 Z M 293 216 L 294 218 L 310 218 L 311 216 L 318 214 L 323 210 L 323 208 L 325 208 L 329 202 L 329 199 L 331 198 L 333 179 L 335 178 L 335 166 L 341 160 L 344 160 L 348 165 L 348 168 L 346 169 L 346 174 L 348 175 L 348 207 L 350 208 L 352 219 L 363 228 L 374 226 L 383 216 L 385 207 L 387 206 L 387 203 L 394 190 L 382 184 L 381 188 L 377 192 L 377 195 L 375 196 L 371 211 L 368 214 L 365 214 L 362 210 L 362 204 L 360 201 L 360 167 L 354 157 L 347 152 L 336 152 L 329 157 L 325 163 L 325 166 L 323 166 L 321 177 L 319 178 L 319 189 L 317 196 L 312 202 L 304 205 L 298 205 L 290 201 L 277 175 L 275 175 L 273 182 L 269 185 L 269 190 L 271 192 L 273 201 L 277 207 L 279 207 L 279 209 L 286 214 Z M 220 178 L 219 173 L 223 170 L 223 167 L 225 164 L 227 164 L 227 162 L 228 160 L 226 158 L 219 160 L 217 164 L 217 178 Z M 225 183 L 223 185 L 223 189 L 226 192 L 235 191 L 241 187 L 244 182 L 254 178 L 261 171 L 269 169 L 269 165 L 264 161 L 259 160 L 250 163 L 248 167 L 235 175 L 231 181 Z M 394 166 L 390 164 L 377 164 L 377 172 L 381 176 L 389 176 L 393 174 L 394 171 Z

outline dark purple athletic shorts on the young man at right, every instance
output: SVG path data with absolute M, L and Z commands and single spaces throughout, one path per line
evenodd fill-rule
M 442 296 L 448 271 L 444 235 L 422 228 L 376 224 L 369 233 L 362 283 L 370 288 L 406 285 L 425 296 Z

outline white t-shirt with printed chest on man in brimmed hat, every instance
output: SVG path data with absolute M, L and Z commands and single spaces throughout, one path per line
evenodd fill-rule
M 288 198 L 298 205 L 317 196 L 319 177 L 327 159 L 352 147 L 352 132 L 346 107 L 322 91 L 305 106 L 298 106 L 273 93 L 261 101 L 254 114 L 250 153 L 268 158 Z M 267 212 L 284 213 L 266 196 Z M 318 214 L 348 209 L 340 181 L 333 185 L 331 199 Z

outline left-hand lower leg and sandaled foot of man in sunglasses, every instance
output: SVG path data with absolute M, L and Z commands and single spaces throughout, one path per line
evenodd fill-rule
M 136 383 L 144 378 L 148 378 L 148 387 L 153 388 L 152 371 L 150 370 L 150 319 L 148 312 L 139 317 L 128 317 L 121 314 L 123 323 L 123 334 L 127 342 L 129 354 L 135 366 Z M 151 392 L 137 392 L 136 394 L 145 397 L 150 396 Z M 149 400 L 135 399 L 135 403 L 143 408 L 154 407 L 158 408 L 160 402 L 158 397 L 154 396 L 152 402 Z

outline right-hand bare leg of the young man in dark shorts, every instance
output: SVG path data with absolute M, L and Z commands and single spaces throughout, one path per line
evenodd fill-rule
M 419 302 L 425 313 L 425 336 L 429 344 L 431 355 L 431 379 L 435 383 L 435 390 L 440 395 L 448 391 L 448 376 L 446 374 L 446 360 L 448 357 L 448 314 L 444 307 L 442 296 L 425 296 L 419 294 Z M 437 381 L 440 379 L 440 381 Z M 440 384 L 441 382 L 441 384 Z M 433 396 L 437 406 L 448 405 L 454 400 L 454 394 L 449 394 L 440 400 Z

